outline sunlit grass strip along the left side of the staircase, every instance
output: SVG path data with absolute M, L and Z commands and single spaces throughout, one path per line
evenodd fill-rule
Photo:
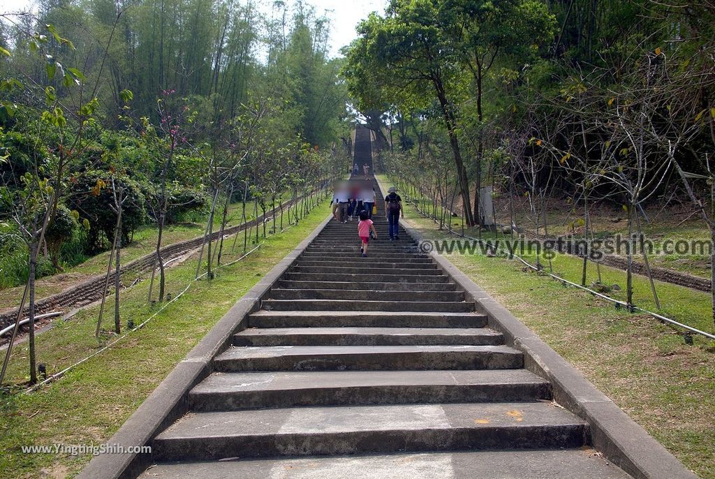
M 299 224 L 268 237 L 259 250 L 244 260 L 217 270 L 214 280 L 195 282 L 142 330 L 129 333 L 117 345 L 75 367 L 53 385 L 31 394 L 1 395 L 0 475 L 64 478 L 78 473 L 91 459 L 89 455 L 30 455 L 22 454 L 20 447 L 54 443 L 99 445 L 107 441 L 222 315 L 327 214 L 324 201 Z M 227 255 L 225 262 L 242 255 L 242 239 L 240 234 L 235 253 Z M 167 291 L 177 295 L 191 282 L 195 270 L 195 259 L 171 267 Z M 138 324 L 158 310 L 146 304 L 148 284 L 142 281 L 122 292 L 123 325 L 130 318 Z M 44 362 L 50 374 L 97 350 L 94 328 L 98 310 L 99 307 L 87 308 L 37 337 L 38 362 Z M 110 306 L 109 315 L 105 313 L 107 328 L 113 322 L 112 311 Z M 19 343 L 13 350 L 9 379 L 26 380 L 26 367 L 26 344 Z

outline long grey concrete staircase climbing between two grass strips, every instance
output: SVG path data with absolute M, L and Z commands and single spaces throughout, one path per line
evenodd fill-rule
M 367 258 L 355 222 L 325 227 L 141 477 L 627 477 L 408 234 L 374 220 Z

